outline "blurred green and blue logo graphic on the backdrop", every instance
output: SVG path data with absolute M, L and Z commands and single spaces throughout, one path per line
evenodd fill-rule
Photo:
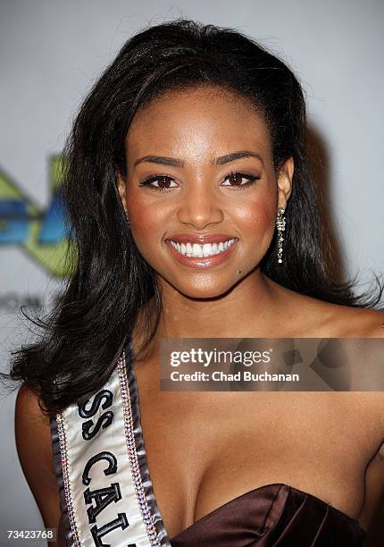
M 0 170 L 0 248 L 19 246 L 54 277 L 69 274 L 69 242 L 60 195 L 62 166 L 61 156 L 49 157 L 51 199 L 44 210 Z

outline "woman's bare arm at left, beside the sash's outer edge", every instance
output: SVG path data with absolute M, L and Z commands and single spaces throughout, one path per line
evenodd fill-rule
M 29 387 L 21 386 L 17 393 L 14 425 L 21 468 L 44 524 L 57 528 L 61 511 L 49 417 L 38 404 L 38 394 Z

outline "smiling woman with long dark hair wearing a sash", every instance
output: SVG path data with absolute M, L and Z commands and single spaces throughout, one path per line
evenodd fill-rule
M 330 279 L 295 75 L 234 30 L 154 26 L 96 82 L 66 154 L 76 267 L 12 371 L 58 544 L 362 545 L 380 392 L 159 389 L 163 338 L 383 338 L 382 288 Z

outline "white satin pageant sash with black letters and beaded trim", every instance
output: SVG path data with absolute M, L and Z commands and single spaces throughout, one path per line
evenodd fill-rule
M 71 547 L 171 545 L 147 467 L 131 356 L 129 343 L 101 390 L 51 420 Z

